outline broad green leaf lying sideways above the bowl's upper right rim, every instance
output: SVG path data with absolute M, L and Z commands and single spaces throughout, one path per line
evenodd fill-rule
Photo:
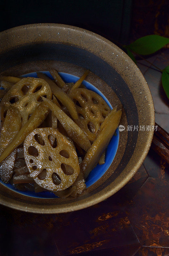
M 148 55 L 157 52 L 168 43 L 169 38 L 158 35 L 149 35 L 137 39 L 135 42 L 127 45 L 127 47 L 132 52 L 136 52 L 141 55 Z

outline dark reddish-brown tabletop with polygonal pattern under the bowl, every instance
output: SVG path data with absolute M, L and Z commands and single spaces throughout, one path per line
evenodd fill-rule
M 151 56 L 164 68 L 169 50 Z M 152 92 L 156 122 L 168 130 L 161 74 L 138 61 Z M 167 256 L 169 173 L 150 149 L 130 182 L 107 200 L 65 214 L 32 214 L 0 206 L 1 256 Z

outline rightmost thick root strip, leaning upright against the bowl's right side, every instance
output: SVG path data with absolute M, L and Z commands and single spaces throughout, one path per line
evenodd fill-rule
M 122 111 L 118 110 L 117 112 L 114 112 L 112 110 L 112 113 L 112 115 L 109 115 L 109 117 L 106 118 L 106 124 L 102 129 L 99 129 L 96 139 L 84 157 L 82 171 L 85 179 L 98 163 L 102 156 L 102 152 L 107 148 L 111 137 L 118 127 Z

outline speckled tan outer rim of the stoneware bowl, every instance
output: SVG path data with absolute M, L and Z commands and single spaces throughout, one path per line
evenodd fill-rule
M 107 47 L 111 47 L 114 48 L 116 50 L 116 52 L 118 52 L 118 54 L 125 56 L 125 59 L 127 61 L 127 63 L 130 64 L 130 69 L 135 72 L 135 75 L 137 77 L 139 77 L 140 79 L 140 83 L 144 86 L 144 90 L 146 91 L 146 95 L 147 95 L 147 100 L 150 103 L 150 110 L 149 110 L 149 115 L 150 115 L 150 125 L 154 125 L 155 124 L 155 114 L 154 114 L 154 104 L 153 104 L 153 100 L 152 100 L 152 96 L 151 96 L 151 92 L 150 89 L 145 81 L 144 76 L 142 75 L 141 71 L 138 69 L 138 67 L 136 66 L 136 64 L 129 58 L 129 56 L 124 53 L 118 46 L 116 46 L 115 44 L 113 44 L 112 42 L 110 42 L 109 40 L 105 39 L 102 36 L 99 36 L 91 31 L 88 31 L 86 29 L 82 29 L 82 28 L 77 28 L 77 27 L 73 27 L 73 26 L 69 26 L 69 25 L 63 25 L 63 24 L 54 24 L 54 23 L 40 23 L 40 24 L 30 24 L 30 25 L 23 25 L 23 26 L 19 26 L 19 27 L 15 27 L 15 28 L 10 28 L 8 30 L 2 31 L 0 32 L 0 38 L 2 35 L 5 36 L 5 34 L 8 33 L 15 33 L 17 30 L 25 30 L 26 28 L 42 28 L 42 27 L 54 27 L 54 28 L 59 28 L 59 29 L 70 29 L 73 31 L 76 31 L 78 33 L 85 33 L 88 34 L 89 36 L 95 37 L 95 40 L 100 40 L 102 41 L 102 44 L 106 44 Z M 1 43 L 1 42 L 0 42 Z M 19 42 L 18 42 L 19 45 Z M 115 69 L 116 70 L 116 69 Z M 117 70 L 116 70 L 117 71 Z M 120 73 L 119 73 L 120 74 Z M 72 212 L 72 211 L 77 211 L 89 206 L 92 206 L 94 204 L 97 204 L 105 199 L 107 199 L 109 196 L 112 196 L 113 194 L 115 194 L 119 189 L 121 189 L 133 176 L 134 174 L 137 172 L 137 170 L 139 169 L 139 167 L 141 166 L 141 164 L 143 163 L 145 157 L 148 154 L 148 151 L 150 149 L 151 146 L 151 142 L 152 142 L 152 138 L 153 138 L 153 132 L 147 132 L 147 142 L 144 143 L 144 150 L 143 152 L 140 153 L 139 156 L 139 160 L 136 161 L 136 163 L 134 164 L 134 166 L 132 166 L 132 168 L 130 169 L 130 171 L 127 172 L 127 174 L 125 173 L 125 169 L 127 168 L 127 166 L 124 168 L 124 170 L 122 171 L 122 173 L 116 178 L 116 186 L 114 187 L 114 181 L 109 184 L 106 188 L 104 188 L 102 191 L 99 191 L 97 194 L 93 195 L 93 196 L 89 196 L 86 199 L 80 200 L 78 202 L 73 202 L 73 203 L 69 203 L 69 201 L 67 202 L 67 204 L 64 205 L 50 205 L 50 207 L 44 207 L 43 205 L 30 205 L 23 203 L 23 202 L 19 202 L 19 201 L 14 201 L 12 202 L 12 200 L 7 200 L 4 199 L 3 197 L 0 199 L 0 203 L 17 209 L 17 210 L 22 210 L 25 212 L 34 212 L 34 213 L 63 213 L 63 212 Z M 137 144 L 136 144 L 137 145 Z M 125 175 L 124 175 L 125 173 Z M 46 199 L 44 199 L 46 200 Z

